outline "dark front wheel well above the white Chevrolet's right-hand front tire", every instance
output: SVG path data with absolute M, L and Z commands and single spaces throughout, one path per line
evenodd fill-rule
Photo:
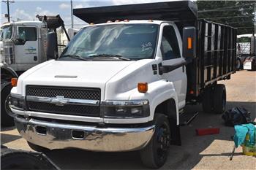
M 155 113 L 162 113 L 167 115 L 169 118 L 174 118 L 176 120 L 176 103 L 173 98 L 163 101 L 155 109 Z

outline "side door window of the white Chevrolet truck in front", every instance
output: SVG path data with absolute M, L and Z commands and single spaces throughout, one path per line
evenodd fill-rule
M 173 26 L 165 26 L 163 28 L 161 52 L 163 60 L 181 58 L 178 40 Z

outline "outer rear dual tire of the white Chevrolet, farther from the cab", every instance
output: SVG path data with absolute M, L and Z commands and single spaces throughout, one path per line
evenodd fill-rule
M 226 88 L 218 84 L 214 88 L 214 112 L 222 114 L 226 109 Z

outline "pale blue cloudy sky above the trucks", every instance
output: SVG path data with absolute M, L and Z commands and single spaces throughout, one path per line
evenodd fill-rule
M 71 27 L 70 0 L 10 0 L 11 20 L 38 20 L 36 15 L 60 15 L 67 28 Z M 120 4 L 138 4 L 170 0 L 72 0 L 73 8 L 101 7 Z M 7 13 L 7 4 L 1 1 L 1 24 L 7 22 L 4 14 Z M 74 28 L 81 28 L 86 23 L 74 16 Z

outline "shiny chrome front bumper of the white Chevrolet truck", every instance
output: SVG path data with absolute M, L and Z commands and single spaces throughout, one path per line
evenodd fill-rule
M 50 150 L 78 148 L 118 152 L 140 150 L 154 134 L 154 125 L 143 128 L 98 128 L 93 125 L 70 125 L 15 116 L 16 127 L 27 141 Z M 43 129 L 42 131 L 38 131 Z M 75 134 L 83 134 L 74 136 Z

